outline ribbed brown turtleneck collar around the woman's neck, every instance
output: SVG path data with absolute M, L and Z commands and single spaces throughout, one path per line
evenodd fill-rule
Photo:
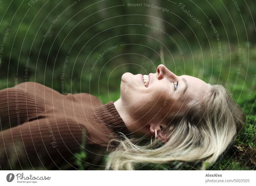
M 123 119 L 116 110 L 114 101 L 95 108 L 94 113 L 97 119 L 114 133 L 118 134 L 118 132 L 122 132 L 127 137 L 131 136 L 130 130 L 126 127 Z

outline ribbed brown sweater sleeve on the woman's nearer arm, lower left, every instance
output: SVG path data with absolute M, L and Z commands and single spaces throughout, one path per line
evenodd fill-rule
M 74 120 L 54 116 L 4 130 L 0 133 L 0 167 L 22 169 L 30 165 L 48 169 L 51 165 L 61 169 L 62 164 L 72 167 L 74 160 L 70 157 L 84 148 L 84 131 L 84 126 Z

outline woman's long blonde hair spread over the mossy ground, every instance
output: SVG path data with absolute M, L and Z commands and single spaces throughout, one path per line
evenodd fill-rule
M 228 91 L 222 85 L 210 85 L 201 102 L 188 104 L 185 116 L 170 118 L 163 130 L 168 141 L 155 140 L 152 147 L 146 138 L 113 139 L 118 146 L 109 154 L 106 170 L 133 170 L 141 163 L 173 161 L 202 161 L 201 169 L 205 169 L 234 142 L 244 122 L 244 113 Z

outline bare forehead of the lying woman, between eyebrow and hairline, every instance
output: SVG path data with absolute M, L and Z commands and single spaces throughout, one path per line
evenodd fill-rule
M 200 99 L 205 95 L 206 91 L 210 89 L 209 84 L 199 78 L 189 75 L 181 75 L 180 78 L 184 78 L 187 81 L 188 88 L 185 94 L 188 97 Z M 182 81 L 182 83 L 185 84 L 184 81 Z

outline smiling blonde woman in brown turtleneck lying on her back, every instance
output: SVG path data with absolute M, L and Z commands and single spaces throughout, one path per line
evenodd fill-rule
M 25 160 L 31 166 L 71 164 L 70 157 L 84 148 L 84 136 L 94 159 L 108 147 L 106 169 L 175 160 L 202 160 L 205 168 L 228 148 L 245 120 L 221 85 L 177 76 L 164 65 L 154 74 L 125 73 L 120 99 L 106 105 L 89 94 L 62 96 L 32 82 L 1 90 L 0 100 L 5 157 L 0 166 L 7 169 L 13 159 L 21 167 Z

